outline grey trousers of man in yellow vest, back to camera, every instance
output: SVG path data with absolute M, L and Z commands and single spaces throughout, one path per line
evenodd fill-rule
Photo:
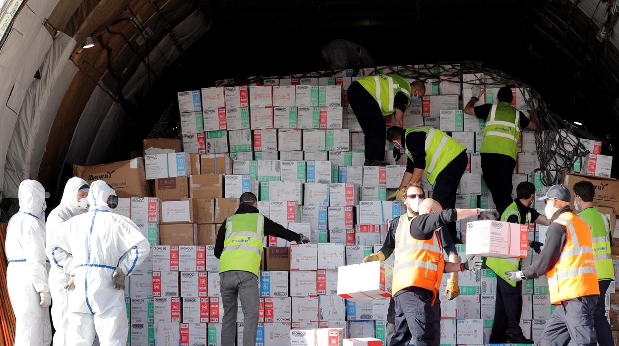
M 238 312 L 239 297 L 245 322 L 243 346 L 255 346 L 260 309 L 258 277 L 250 272 L 230 270 L 220 273 L 219 280 L 223 305 L 221 346 L 234 346 L 235 344 L 236 314 Z M 238 342 L 239 345 L 241 344 L 240 341 Z

